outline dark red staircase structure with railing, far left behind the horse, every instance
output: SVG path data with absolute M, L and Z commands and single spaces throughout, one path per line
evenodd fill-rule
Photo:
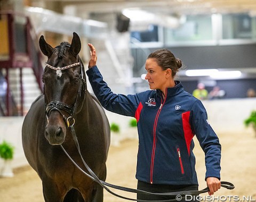
M 42 93 L 43 67 L 35 32 L 29 18 L 14 12 L 0 12 L 0 71 L 7 89 L 1 97 L 0 116 L 22 116 Z

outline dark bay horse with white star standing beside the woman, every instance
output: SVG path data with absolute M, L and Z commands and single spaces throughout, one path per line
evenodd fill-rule
M 86 163 L 99 179 L 106 179 L 109 122 L 96 98 L 86 90 L 84 66 L 78 56 L 81 41 L 73 33 L 71 45 L 65 42 L 53 48 L 41 36 L 39 45 L 48 61 L 43 74 L 44 95 L 31 105 L 23 122 L 26 158 L 42 180 L 45 201 L 103 201 L 102 187 L 79 171 L 60 147 L 86 171 L 71 125 Z

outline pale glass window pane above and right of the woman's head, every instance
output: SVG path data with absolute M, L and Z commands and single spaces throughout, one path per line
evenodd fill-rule
M 189 15 L 186 22 L 177 29 L 166 28 L 166 43 L 171 41 L 211 40 L 211 15 Z

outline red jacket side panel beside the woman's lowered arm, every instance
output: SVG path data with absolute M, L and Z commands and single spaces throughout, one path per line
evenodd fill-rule
M 188 155 L 190 156 L 190 144 L 195 134 L 193 134 L 190 127 L 189 115 L 190 115 L 190 111 L 182 113 L 183 132 L 184 132 L 184 137 L 185 137 L 186 145 L 188 149 Z

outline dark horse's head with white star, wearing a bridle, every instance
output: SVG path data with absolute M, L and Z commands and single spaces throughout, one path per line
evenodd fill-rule
M 81 41 L 74 32 L 71 45 L 61 43 L 53 48 L 44 37 L 39 46 L 48 57 L 43 74 L 45 113 L 47 125 L 45 138 L 51 145 L 60 145 L 65 141 L 67 127 L 75 122 L 85 97 L 85 74 L 78 53 Z

